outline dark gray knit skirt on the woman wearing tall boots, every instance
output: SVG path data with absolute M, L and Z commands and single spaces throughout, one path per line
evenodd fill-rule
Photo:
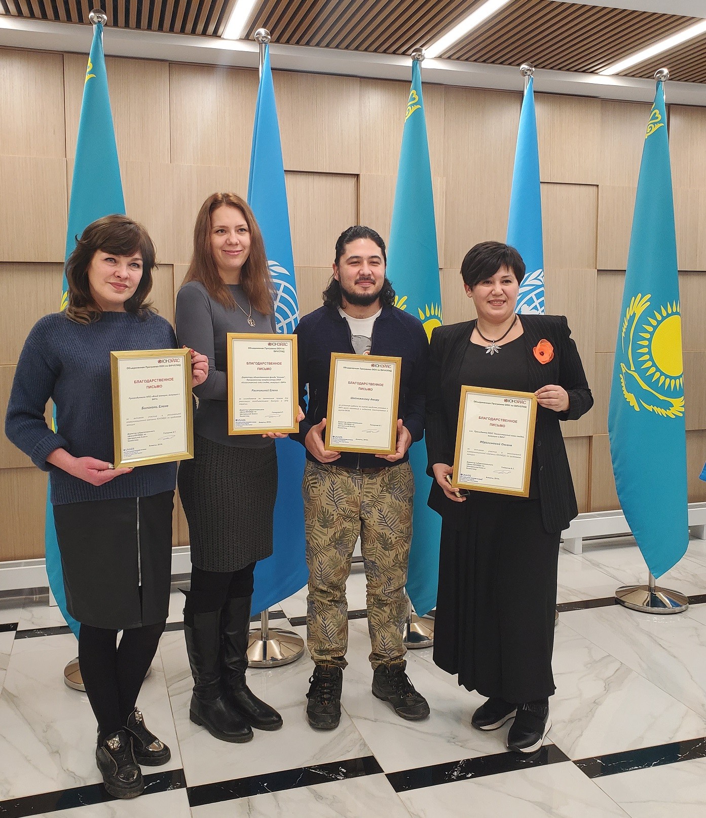
M 196 568 L 239 571 L 270 556 L 277 497 L 274 441 L 245 449 L 194 434 L 194 459 L 181 461 L 177 482 Z

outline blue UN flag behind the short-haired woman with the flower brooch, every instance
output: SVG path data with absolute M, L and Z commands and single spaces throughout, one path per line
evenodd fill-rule
M 525 262 L 527 272 L 520 285 L 516 312 L 544 313 L 544 250 L 542 243 L 542 196 L 539 184 L 537 119 L 534 116 L 534 78 L 525 90 L 517 129 L 515 169 L 512 171 L 507 244 Z

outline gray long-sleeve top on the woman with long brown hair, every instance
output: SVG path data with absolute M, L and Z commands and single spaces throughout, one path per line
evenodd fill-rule
M 255 326 L 248 325 L 250 305 L 239 284 L 229 284 L 239 308 L 228 309 L 212 299 L 198 281 L 189 281 L 176 295 L 176 339 L 208 357 L 208 378 L 194 387 L 199 407 L 194 415 L 194 432 L 226 446 L 254 449 L 271 446 L 271 438 L 259 434 L 228 434 L 228 351 L 229 332 L 276 332 L 275 314 L 262 315 L 252 309 Z

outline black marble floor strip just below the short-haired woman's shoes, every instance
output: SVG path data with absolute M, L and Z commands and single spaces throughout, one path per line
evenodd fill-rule
M 545 744 L 531 755 L 495 753 L 492 756 L 464 758 L 460 762 L 432 764 L 418 767 L 416 770 L 387 773 L 387 780 L 392 784 L 395 793 L 404 793 L 410 789 L 436 787 L 437 784 L 450 784 L 452 781 L 465 781 L 484 775 L 498 775 L 501 772 L 526 770 L 528 767 L 547 766 L 569 760 L 556 744 Z

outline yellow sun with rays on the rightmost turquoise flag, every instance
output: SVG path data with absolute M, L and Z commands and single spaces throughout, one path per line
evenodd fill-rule
M 647 370 L 643 377 L 651 382 L 658 381 L 659 387 L 670 392 L 681 390 L 684 385 L 684 364 L 681 357 L 681 315 L 679 304 L 668 303 L 666 308 L 654 310 L 654 316 L 647 316 L 638 333 L 637 362 Z M 650 381 L 648 381 L 650 382 Z

